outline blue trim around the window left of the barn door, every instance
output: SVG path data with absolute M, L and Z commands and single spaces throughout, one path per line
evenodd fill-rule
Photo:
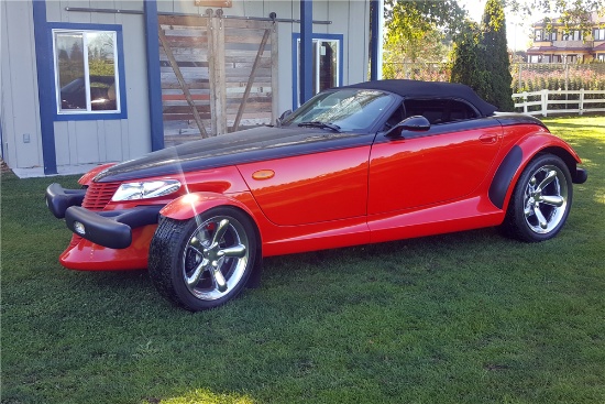
M 119 24 L 86 24 L 86 23 L 65 23 L 65 22 L 50 22 L 46 24 L 48 32 L 48 46 L 51 52 L 51 77 L 53 88 L 53 99 L 45 97 L 44 100 L 52 102 L 53 120 L 54 121 L 102 121 L 102 120 L 116 120 L 127 119 L 127 84 L 125 84 L 125 69 L 124 69 L 124 46 L 122 40 L 122 25 Z M 120 91 L 120 112 L 79 112 L 79 113 L 58 113 L 58 106 L 56 102 L 56 83 L 55 83 L 55 61 L 53 48 L 53 30 L 74 30 L 74 31 L 114 31 L 118 45 L 118 77 L 119 77 L 119 91 Z M 42 101 L 42 100 L 41 100 Z

